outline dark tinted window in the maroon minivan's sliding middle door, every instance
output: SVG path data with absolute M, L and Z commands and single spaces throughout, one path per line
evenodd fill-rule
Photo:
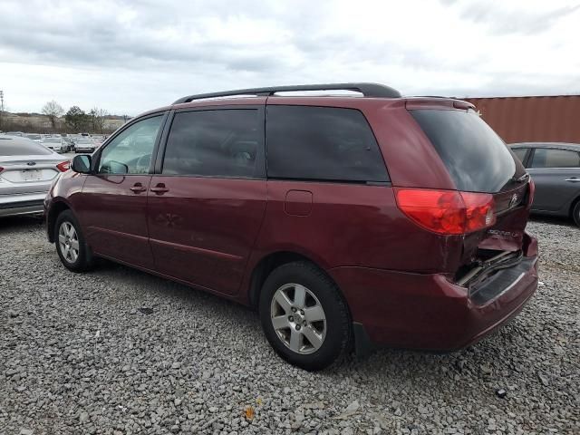
M 163 174 L 263 178 L 263 130 L 256 109 L 182 111 L 175 114 Z

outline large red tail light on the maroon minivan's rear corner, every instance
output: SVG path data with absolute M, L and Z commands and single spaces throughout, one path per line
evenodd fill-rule
M 396 198 L 405 215 L 435 233 L 466 234 L 496 223 L 494 200 L 488 193 L 396 189 Z

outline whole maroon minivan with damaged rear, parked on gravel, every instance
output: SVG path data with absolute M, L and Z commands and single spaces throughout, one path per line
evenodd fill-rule
M 341 83 L 148 111 L 76 156 L 45 212 L 69 269 L 103 257 L 255 306 L 277 353 L 320 370 L 459 349 L 517 314 L 533 194 L 468 102 Z

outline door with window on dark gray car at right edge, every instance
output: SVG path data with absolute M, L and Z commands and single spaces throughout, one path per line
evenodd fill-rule
M 580 153 L 536 148 L 528 171 L 536 184 L 533 210 L 567 215 L 580 194 Z

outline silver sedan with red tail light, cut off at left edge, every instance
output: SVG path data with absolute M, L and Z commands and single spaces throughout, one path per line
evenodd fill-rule
M 0 217 L 43 212 L 53 180 L 69 169 L 52 150 L 20 136 L 0 136 Z

